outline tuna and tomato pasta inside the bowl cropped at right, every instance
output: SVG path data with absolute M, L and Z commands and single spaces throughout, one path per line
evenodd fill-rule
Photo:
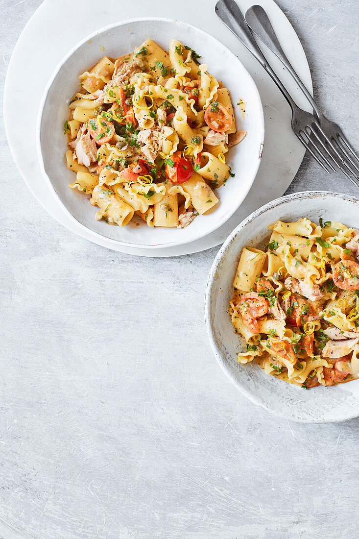
M 241 253 L 229 313 L 240 363 L 302 388 L 359 378 L 359 231 L 278 220 Z

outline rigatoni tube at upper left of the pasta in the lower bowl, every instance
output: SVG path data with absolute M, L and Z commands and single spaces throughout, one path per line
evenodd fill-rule
M 251 292 L 256 286 L 266 259 L 266 253 L 254 247 L 245 247 L 240 255 L 233 286 L 244 292 Z

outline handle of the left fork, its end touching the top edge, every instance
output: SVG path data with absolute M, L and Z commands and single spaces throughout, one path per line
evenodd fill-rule
M 219 0 L 215 6 L 215 11 L 217 16 L 222 20 L 222 22 L 234 33 L 241 43 L 247 47 L 255 58 L 259 61 L 260 65 L 264 67 L 268 75 L 273 79 L 275 84 L 280 89 L 281 93 L 284 95 L 286 100 L 289 103 L 289 106 L 294 110 L 298 109 L 295 102 L 287 92 L 286 88 L 282 85 L 282 82 L 277 77 L 277 75 L 272 70 L 271 66 L 268 64 L 263 52 L 259 49 L 256 40 L 253 37 L 252 32 L 247 26 L 245 19 L 240 11 L 238 4 L 234 0 Z

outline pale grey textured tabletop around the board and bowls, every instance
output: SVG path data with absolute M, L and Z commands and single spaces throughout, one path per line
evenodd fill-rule
M 40 3 L 0 3 L 1 89 Z M 358 3 L 279 5 L 357 148 Z M 203 322 L 217 248 L 150 259 L 88 243 L 33 198 L 0 137 L 0 537 L 356 538 L 359 420 L 288 423 L 227 380 Z M 310 189 L 357 195 L 305 158 L 287 192 Z

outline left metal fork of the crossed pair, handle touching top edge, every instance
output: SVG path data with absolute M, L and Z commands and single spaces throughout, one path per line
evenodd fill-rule
M 332 154 L 329 153 L 325 142 L 323 142 L 321 137 L 317 134 L 317 132 L 321 132 L 319 121 L 313 114 L 302 110 L 293 101 L 287 92 L 287 89 L 274 73 L 264 54 L 259 49 L 237 3 L 234 0 L 219 0 L 215 6 L 215 11 L 231 32 L 234 33 L 240 42 L 247 47 L 248 51 L 250 51 L 259 61 L 261 66 L 264 67 L 265 71 L 270 75 L 285 99 L 288 101 L 289 106 L 292 109 L 291 125 L 296 137 L 298 137 L 303 146 L 306 147 L 317 163 L 319 163 L 328 174 L 330 171 L 335 171 L 333 162 L 335 164 L 337 163 Z M 313 135 L 313 138 L 311 139 L 309 135 Z M 337 166 L 339 167 L 339 165 Z M 356 177 L 356 179 L 359 181 L 359 177 Z M 352 181 L 354 180 L 352 179 Z

